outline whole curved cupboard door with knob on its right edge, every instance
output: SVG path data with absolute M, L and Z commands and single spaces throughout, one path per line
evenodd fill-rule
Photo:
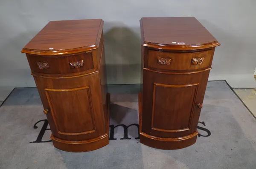
M 161 138 L 195 133 L 209 71 L 192 74 L 143 72 L 141 132 Z

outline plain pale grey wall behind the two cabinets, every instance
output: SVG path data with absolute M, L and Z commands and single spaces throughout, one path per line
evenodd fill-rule
M 50 20 L 92 18 L 105 20 L 108 84 L 140 83 L 140 18 L 177 16 L 196 17 L 221 43 L 209 80 L 254 88 L 255 9 L 255 0 L 1 0 L 0 88 L 35 86 L 20 50 Z

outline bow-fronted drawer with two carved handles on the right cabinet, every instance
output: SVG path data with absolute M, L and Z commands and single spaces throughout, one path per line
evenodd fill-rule
M 193 53 L 148 50 L 148 67 L 170 71 L 194 71 L 211 66 L 214 50 Z

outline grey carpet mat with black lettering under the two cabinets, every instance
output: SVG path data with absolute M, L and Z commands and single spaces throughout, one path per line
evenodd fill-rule
M 0 168 L 256 169 L 256 120 L 224 81 L 208 83 L 198 123 L 200 137 L 194 145 L 179 150 L 154 149 L 135 139 L 138 103 L 137 95 L 129 91 L 139 88 L 119 85 L 110 89 L 110 143 L 84 153 L 55 149 L 37 89 L 15 89 L 0 107 Z M 123 126 L 113 131 L 119 124 L 134 125 L 125 136 Z M 42 128 L 47 130 L 40 138 Z M 36 140 L 39 143 L 29 143 Z

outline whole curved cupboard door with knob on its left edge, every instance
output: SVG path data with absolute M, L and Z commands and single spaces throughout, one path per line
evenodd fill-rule
M 54 137 L 79 141 L 106 134 L 98 73 L 34 78 Z

